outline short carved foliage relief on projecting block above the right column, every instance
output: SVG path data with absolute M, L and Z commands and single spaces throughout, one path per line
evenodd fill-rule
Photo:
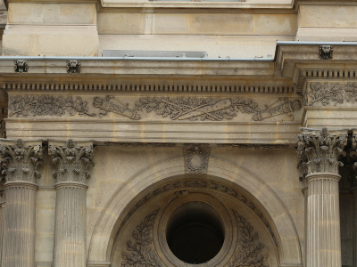
M 357 83 L 313 83 L 310 85 L 310 89 L 305 92 L 305 104 L 307 106 L 317 104 L 323 106 L 333 104 L 336 106 L 345 102 L 357 102 Z

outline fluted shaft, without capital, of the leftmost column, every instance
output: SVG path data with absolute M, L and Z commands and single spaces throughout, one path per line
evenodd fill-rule
M 6 189 L 6 267 L 35 266 L 35 214 L 37 185 L 8 182 Z

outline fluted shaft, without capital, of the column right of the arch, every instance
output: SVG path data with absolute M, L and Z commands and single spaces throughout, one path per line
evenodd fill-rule
M 310 174 L 307 196 L 307 266 L 341 266 L 339 174 Z

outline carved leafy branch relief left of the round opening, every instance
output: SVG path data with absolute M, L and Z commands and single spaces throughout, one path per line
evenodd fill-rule
M 123 267 L 161 267 L 162 263 L 152 248 L 154 221 L 158 209 L 145 216 L 143 222 L 137 225 L 137 230 L 132 231 L 132 240 L 127 242 L 127 251 L 123 252 L 121 258 Z

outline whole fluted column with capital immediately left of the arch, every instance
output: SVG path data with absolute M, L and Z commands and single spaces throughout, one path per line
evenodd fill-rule
M 50 143 L 55 165 L 54 267 L 86 266 L 87 179 L 92 143 Z

